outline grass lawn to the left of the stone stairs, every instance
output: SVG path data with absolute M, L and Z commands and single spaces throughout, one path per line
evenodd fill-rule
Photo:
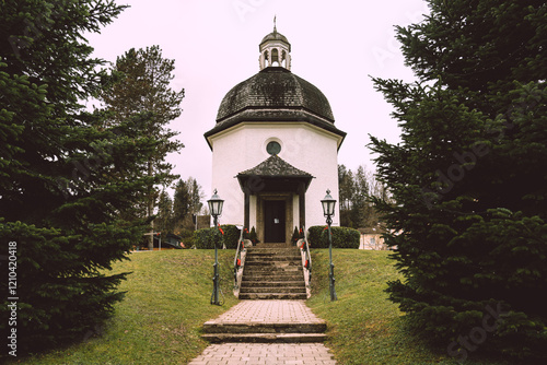
M 208 345 L 201 326 L 237 303 L 232 294 L 234 250 L 219 250 L 223 306 L 210 305 L 214 250 L 131 254 L 115 272 L 126 298 L 101 335 L 21 364 L 186 364 Z M 222 296 L 221 296 L 222 299 Z

